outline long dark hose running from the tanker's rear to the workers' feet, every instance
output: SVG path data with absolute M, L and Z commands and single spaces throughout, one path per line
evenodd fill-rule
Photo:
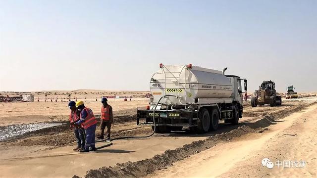
M 152 136 L 152 135 L 155 133 L 156 128 L 157 128 L 157 126 L 156 126 L 156 124 L 155 124 L 155 111 L 156 111 L 156 109 L 157 109 L 157 107 L 158 107 L 158 105 L 159 105 L 160 100 L 161 100 L 162 98 L 165 98 L 165 97 L 168 97 L 168 96 L 177 97 L 177 96 L 175 96 L 175 95 L 170 95 L 170 94 L 169 94 L 169 95 L 161 96 L 161 97 L 159 98 L 159 101 L 157 102 L 157 104 L 155 105 L 155 107 L 154 107 L 154 109 L 153 109 L 153 124 L 154 124 L 154 130 L 153 130 L 152 134 L 145 135 L 145 136 L 123 136 L 123 137 L 117 137 L 117 138 L 111 138 L 111 139 L 98 140 L 98 141 L 96 141 L 96 143 L 106 141 L 108 144 L 102 145 L 102 146 L 99 146 L 99 147 L 96 147 L 96 149 L 98 150 L 98 149 L 105 148 L 105 147 L 107 147 L 107 146 L 112 145 L 111 141 L 113 141 L 113 140 L 127 139 L 127 138 L 147 138 L 147 137 Z

